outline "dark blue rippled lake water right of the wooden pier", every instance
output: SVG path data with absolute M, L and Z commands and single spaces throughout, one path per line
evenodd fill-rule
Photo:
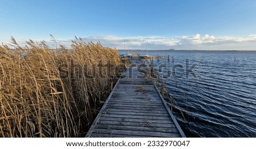
M 256 52 L 148 51 L 155 53 L 170 55 L 155 63 L 172 72 L 164 81 L 187 137 L 256 137 Z M 193 75 L 185 72 L 186 59 Z

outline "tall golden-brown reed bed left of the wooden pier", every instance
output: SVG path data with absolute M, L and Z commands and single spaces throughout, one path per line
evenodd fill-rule
M 0 46 L 0 137 L 85 136 L 122 67 L 117 49 L 12 45 Z

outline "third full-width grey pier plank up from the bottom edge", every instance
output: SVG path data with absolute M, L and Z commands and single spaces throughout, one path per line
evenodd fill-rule
M 148 123 L 148 122 L 105 121 L 105 120 L 102 120 L 102 119 L 99 119 L 97 124 L 121 125 L 121 126 L 147 126 L 147 127 L 176 128 L 174 123 L 156 123 L 156 122 Z

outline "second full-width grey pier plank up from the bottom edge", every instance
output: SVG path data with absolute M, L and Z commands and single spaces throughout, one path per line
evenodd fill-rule
M 106 124 L 97 124 L 97 129 L 115 129 L 115 130 L 135 130 L 135 131 L 150 131 L 154 132 L 163 132 L 163 133 L 179 133 L 177 128 L 164 128 L 164 127 L 147 127 L 147 126 L 122 126 L 122 125 L 106 125 Z

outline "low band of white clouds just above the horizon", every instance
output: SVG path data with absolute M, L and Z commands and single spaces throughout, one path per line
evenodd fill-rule
M 70 48 L 72 39 L 56 39 L 57 44 Z M 256 50 L 256 35 L 245 38 L 213 35 L 192 35 L 168 38 L 164 36 L 88 36 L 82 38 L 84 42 L 98 42 L 117 49 L 199 49 L 199 50 Z M 148 41 L 148 42 L 147 42 Z M 46 40 L 50 47 L 56 46 L 51 40 Z

